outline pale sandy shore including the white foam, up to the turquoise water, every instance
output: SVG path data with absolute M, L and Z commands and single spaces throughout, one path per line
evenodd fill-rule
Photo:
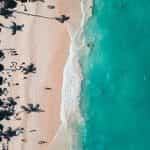
M 41 3 L 27 6 L 29 13 L 43 16 L 66 14 L 70 16 L 70 20 L 60 24 L 55 20 L 48 21 L 16 14 L 16 19 L 12 18 L 11 21 L 23 23 L 23 31 L 17 32 L 11 39 L 9 30 L 4 30 L 1 34 L 1 46 L 16 48 L 19 53 L 16 57 L 7 57 L 5 65 L 9 66 L 11 61 L 18 64 L 24 61 L 37 67 L 36 74 L 32 74 L 26 80 L 19 72 L 12 78 L 13 82 L 19 82 L 21 85 L 19 88 L 10 89 L 10 96 L 21 96 L 16 111 L 21 111 L 21 106 L 29 103 L 39 104 L 45 111 L 38 114 L 22 114 L 20 121 L 4 122 L 4 125 L 25 129 L 23 135 L 10 142 L 10 150 L 31 150 L 32 147 L 36 150 L 71 150 L 77 144 L 77 134 L 72 127 L 83 122 L 79 110 L 82 71 L 78 57 L 83 44 L 82 3 L 80 0 L 53 0 L 51 3 L 56 6 L 53 11 L 45 9 L 45 3 L 44 7 Z M 46 4 L 49 4 L 49 1 Z M 10 20 L 2 20 L 6 25 L 11 24 Z M 52 89 L 46 91 L 46 87 Z M 30 133 L 32 129 L 37 132 Z M 40 140 L 46 143 L 38 145 Z M 59 147 L 54 148 L 54 145 Z

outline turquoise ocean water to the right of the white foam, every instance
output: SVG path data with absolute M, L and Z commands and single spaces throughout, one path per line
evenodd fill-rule
M 94 0 L 82 57 L 82 150 L 150 150 L 150 0 Z

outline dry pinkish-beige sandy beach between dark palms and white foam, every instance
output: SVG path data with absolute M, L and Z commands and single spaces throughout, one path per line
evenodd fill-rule
M 46 7 L 48 4 L 55 5 L 56 8 L 50 10 Z M 19 82 L 20 86 L 10 87 L 9 96 L 21 97 L 17 111 L 20 111 L 19 106 L 28 103 L 38 103 L 45 111 L 21 114 L 21 120 L 4 121 L 7 126 L 21 126 L 25 129 L 24 134 L 10 142 L 9 150 L 48 150 L 61 125 L 61 90 L 64 65 L 70 47 L 69 27 L 76 30 L 79 25 L 80 1 L 51 0 L 44 4 L 28 4 L 27 7 L 32 14 L 50 17 L 61 14 L 70 16 L 68 22 L 61 24 L 55 20 L 16 14 L 15 21 L 24 24 L 24 30 L 15 36 L 11 36 L 10 31 L 3 30 L 0 35 L 1 48 L 16 48 L 19 53 L 16 57 L 7 56 L 4 64 L 9 66 L 11 61 L 16 61 L 18 64 L 34 63 L 37 67 L 36 74 L 29 75 L 26 80 L 20 73 L 13 74 L 12 82 Z M 1 18 L 1 21 L 10 24 L 6 19 Z M 33 129 L 36 132 L 29 132 Z M 39 141 L 47 143 L 40 145 Z

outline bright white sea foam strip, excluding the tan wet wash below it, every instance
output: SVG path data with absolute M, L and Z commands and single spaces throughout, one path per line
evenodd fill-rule
M 68 27 L 71 37 L 71 46 L 69 57 L 64 68 L 61 107 L 61 120 L 65 126 L 67 126 L 72 120 L 72 114 L 79 113 L 78 104 L 80 100 L 82 81 L 81 67 L 79 64 L 79 51 L 86 48 L 84 45 L 83 27 L 92 14 L 91 6 L 92 0 L 81 0 L 81 25 L 76 32 L 71 32 L 71 26 Z M 82 120 L 80 113 L 77 116 L 73 116 L 73 119 L 75 119 L 75 117 L 79 117 L 78 119 Z

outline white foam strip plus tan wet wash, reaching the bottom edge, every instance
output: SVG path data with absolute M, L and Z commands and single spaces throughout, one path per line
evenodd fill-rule
M 50 150 L 79 150 L 76 149 L 77 134 L 76 126 L 84 123 L 80 114 L 79 101 L 82 82 L 82 71 L 79 64 L 79 52 L 85 49 L 83 27 L 91 16 L 92 0 L 81 0 L 82 19 L 78 31 L 74 31 L 68 24 L 71 45 L 69 56 L 64 68 L 62 103 L 61 103 L 61 126 L 56 137 L 50 145 Z M 58 147 L 58 144 L 60 147 Z

